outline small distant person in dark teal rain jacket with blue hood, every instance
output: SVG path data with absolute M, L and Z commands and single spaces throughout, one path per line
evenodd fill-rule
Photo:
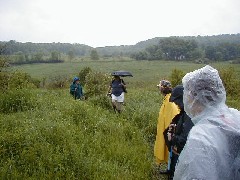
M 73 82 L 70 86 L 70 94 L 74 97 L 74 99 L 81 99 L 83 97 L 83 89 L 78 77 L 73 78 Z

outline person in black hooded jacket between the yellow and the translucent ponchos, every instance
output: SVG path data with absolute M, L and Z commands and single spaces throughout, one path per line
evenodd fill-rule
M 169 101 L 174 102 L 180 109 L 180 113 L 173 118 L 169 127 L 164 131 L 165 141 L 171 152 L 169 179 L 172 179 L 179 154 L 186 144 L 193 122 L 184 111 L 182 85 L 178 85 L 173 89 Z

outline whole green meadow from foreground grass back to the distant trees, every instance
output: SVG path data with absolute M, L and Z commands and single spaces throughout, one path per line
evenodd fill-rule
M 240 64 L 211 64 L 219 71 Z M 110 74 L 127 70 L 128 93 L 122 114 L 115 114 L 106 92 L 75 101 L 68 86 L 23 88 L 0 95 L 1 179 L 167 179 L 159 175 L 153 156 L 162 96 L 156 85 L 173 69 L 183 73 L 204 64 L 172 61 L 81 60 L 59 64 L 10 67 L 37 79 L 72 79 L 90 67 Z M 96 77 L 101 80 L 101 76 Z M 99 78 L 99 79 L 98 79 Z M 231 86 L 234 88 L 234 86 Z M 236 84 L 236 88 L 239 87 Z M 239 96 L 228 96 L 229 106 L 240 109 Z M 165 168 L 165 167 L 162 167 Z

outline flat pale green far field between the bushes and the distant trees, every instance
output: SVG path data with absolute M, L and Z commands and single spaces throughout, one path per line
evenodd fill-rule
M 210 64 L 217 69 L 234 67 L 240 76 L 240 64 L 214 63 Z M 36 78 L 49 78 L 57 76 L 73 77 L 84 67 L 104 73 L 111 73 L 115 70 L 127 70 L 132 72 L 133 78 L 126 78 L 126 81 L 135 85 L 143 84 L 147 87 L 156 87 L 156 83 L 162 78 L 167 78 L 173 69 L 182 70 L 184 73 L 203 67 L 203 64 L 172 61 L 79 61 L 59 64 L 32 64 L 12 67 L 13 70 L 21 70 Z

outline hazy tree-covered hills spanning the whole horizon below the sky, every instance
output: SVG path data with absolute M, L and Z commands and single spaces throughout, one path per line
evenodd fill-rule
M 106 46 L 93 48 L 84 44 L 32 43 L 14 40 L 0 41 L 1 55 L 14 57 L 13 63 L 63 62 L 75 57 L 96 59 L 107 57 L 131 57 L 136 60 L 187 60 L 239 62 L 240 34 L 216 36 L 156 37 L 135 45 Z

